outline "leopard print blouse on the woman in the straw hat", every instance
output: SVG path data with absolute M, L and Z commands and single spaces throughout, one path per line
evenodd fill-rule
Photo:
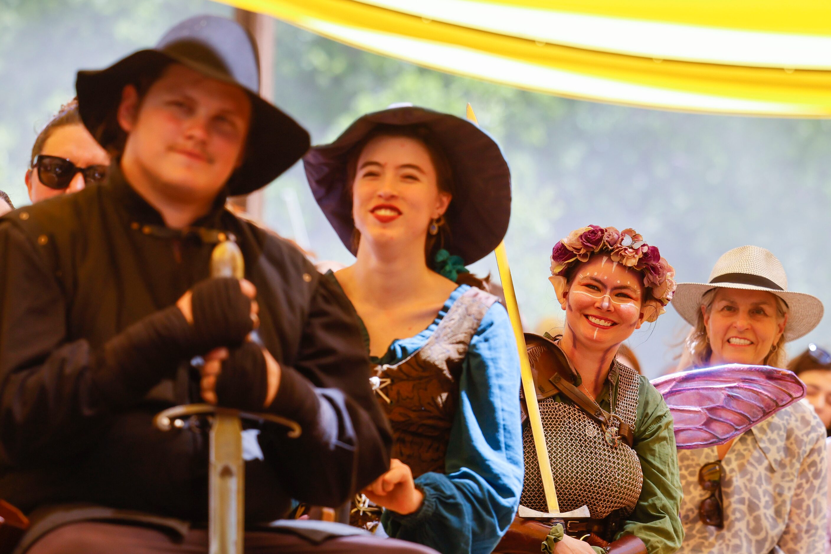
M 724 529 L 698 517 L 709 496 L 698 470 L 718 458 L 715 447 L 679 450 L 686 537 L 678 552 L 823 554 L 827 522 L 825 428 L 802 400 L 735 440 L 722 466 Z

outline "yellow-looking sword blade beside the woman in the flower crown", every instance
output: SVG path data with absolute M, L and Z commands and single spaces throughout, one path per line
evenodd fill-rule
M 470 103 L 467 105 L 467 118 L 475 125 L 479 125 L 476 115 Z M 514 338 L 517 341 L 519 351 L 519 375 L 522 378 L 522 389 L 525 394 L 525 404 L 528 407 L 528 418 L 531 424 L 531 434 L 534 435 L 534 446 L 537 447 L 537 461 L 539 463 L 539 474 L 543 480 L 543 491 L 545 502 L 548 505 L 548 517 L 558 514 L 560 511 L 557 503 L 557 491 L 554 490 L 554 476 L 551 472 L 551 462 L 548 459 L 548 448 L 545 445 L 545 432 L 543 431 L 543 419 L 539 415 L 537 404 L 537 392 L 534 390 L 534 375 L 531 373 L 531 363 L 528 359 L 528 351 L 525 347 L 525 336 L 522 329 L 522 321 L 519 319 L 519 305 L 514 292 L 514 280 L 511 278 L 511 269 L 508 265 L 508 254 L 505 252 L 504 241 L 494 250 L 496 264 L 499 267 L 499 278 L 502 280 L 502 288 L 505 293 L 505 307 L 511 319 L 511 326 L 514 327 Z

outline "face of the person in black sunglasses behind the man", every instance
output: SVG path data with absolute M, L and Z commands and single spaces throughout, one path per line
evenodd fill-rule
M 43 143 L 40 154 L 68 159 L 79 168 L 110 164 L 110 155 L 92 138 L 86 127 L 80 123 L 61 125 L 52 130 L 49 138 Z M 75 174 L 66 189 L 50 189 L 42 184 L 37 174 L 37 168 L 28 169 L 26 172 L 26 188 L 29 191 L 29 199 L 32 200 L 32 203 L 52 198 L 52 196 L 76 193 L 85 187 L 86 182 L 81 172 Z

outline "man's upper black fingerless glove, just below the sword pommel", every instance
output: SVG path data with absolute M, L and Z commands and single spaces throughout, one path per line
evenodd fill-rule
M 235 348 L 253 331 L 251 299 L 243 294 L 238 279 L 216 277 L 196 283 L 191 289 L 194 313 L 194 354 L 205 354 L 219 346 Z

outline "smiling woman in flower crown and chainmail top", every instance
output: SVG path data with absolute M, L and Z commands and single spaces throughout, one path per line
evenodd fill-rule
M 633 229 L 589 225 L 554 246 L 551 273 L 563 335 L 525 337 L 559 509 L 586 506 L 590 518 L 552 527 L 518 517 L 497 552 L 539 552 L 543 539 L 552 554 L 676 552 L 683 532 L 672 417 L 647 378 L 615 358 L 632 332 L 664 313 L 675 271 Z M 520 503 L 548 512 L 530 427 L 524 450 Z

